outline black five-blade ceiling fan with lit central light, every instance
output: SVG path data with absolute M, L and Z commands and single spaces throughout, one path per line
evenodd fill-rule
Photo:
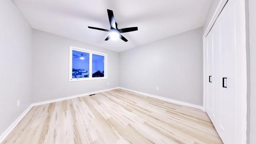
M 113 14 L 112 10 L 108 10 L 108 19 L 109 19 L 109 23 L 110 23 L 110 30 L 106 30 L 106 29 L 103 29 L 103 28 L 95 28 L 95 27 L 92 27 L 92 26 L 88 26 L 88 28 L 109 32 L 109 35 L 105 40 L 109 40 L 110 38 L 113 39 L 113 40 L 117 40 L 118 38 L 120 38 L 125 42 L 127 42 L 128 40 L 124 36 L 122 36 L 121 33 L 132 32 L 132 31 L 138 30 L 138 27 L 118 29 L 117 28 L 117 23 L 115 22 L 115 18 L 114 18 L 114 14 Z

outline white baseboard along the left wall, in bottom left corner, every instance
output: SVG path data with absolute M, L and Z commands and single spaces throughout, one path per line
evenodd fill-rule
M 17 124 L 22 120 L 22 118 L 29 112 L 29 110 L 32 108 L 32 104 L 28 106 L 28 108 L 22 112 L 22 114 L 7 128 L 7 130 L 0 136 L 0 143 L 4 141 L 6 136 L 10 134 L 10 132 L 17 126 Z

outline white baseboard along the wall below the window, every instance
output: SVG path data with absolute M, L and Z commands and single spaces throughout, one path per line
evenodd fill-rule
M 32 106 L 38 106 L 38 105 L 42 105 L 42 104 L 49 104 L 49 103 L 52 103 L 52 102 L 59 102 L 59 101 L 62 101 L 62 100 L 68 100 L 68 99 L 71 99 L 71 98 L 77 98 L 77 97 L 81 97 L 81 96 L 87 96 L 87 95 L 96 94 L 96 93 L 99 93 L 99 92 L 106 92 L 106 91 L 114 90 L 114 89 L 118 89 L 118 88 L 119 88 L 119 87 L 109 88 L 109 89 L 105 89 L 105 90 L 98 90 L 98 91 L 94 91 L 94 92 L 88 92 L 88 93 L 84 93 L 84 94 L 78 94 L 78 95 L 75 95 L 75 96 L 68 96 L 68 97 L 58 98 L 58 99 L 54 99 L 54 100 L 47 100 L 47 101 L 43 101 L 43 102 L 36 102 L 36 103 L 33 103 Z

